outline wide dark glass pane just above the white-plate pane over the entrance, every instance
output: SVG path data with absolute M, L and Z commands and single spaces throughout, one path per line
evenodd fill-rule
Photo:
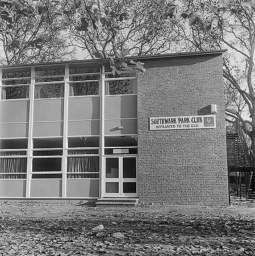
M 137 146 L 137 135 L 104 137 L 104 144 L 106 147 Z

